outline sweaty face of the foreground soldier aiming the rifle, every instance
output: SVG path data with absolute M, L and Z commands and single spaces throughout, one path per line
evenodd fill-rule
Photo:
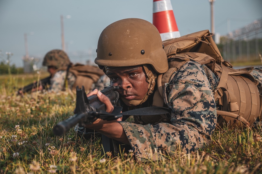
M 148 82 L 142 65 L 107 67 L 106 74 L 110 78 L 110 85 L 119 86 L 117 91 L 127 100 L 142 100 L 148 92 Z

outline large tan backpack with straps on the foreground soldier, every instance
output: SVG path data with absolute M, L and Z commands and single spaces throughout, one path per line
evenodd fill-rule
M 224 61 L 217 48 L 212 33 L 208 30 L 163 41 L 169 61 L 169 69 L 157 79 L 158 91 L 153 98 L 153 106 L 163 106 L 163 87 L 182 65 L 190 60 L 206 65 L 220 77 L 213 91 L 217 104 L 217 127 L 227 123 L 233 127 L 252 124 L 261 115 L 262 97 L 258 91 L 258 81 L 250 74 L 253 67 L 233 69 Z M 165 116 L 163 116 L 165 120 Z M 245 123 L 245 124 L 243 124 Z

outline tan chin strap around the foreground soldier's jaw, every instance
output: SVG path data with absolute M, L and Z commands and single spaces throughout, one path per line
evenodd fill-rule
M 155 87 L 155 84 L 156 84 L 157 75 L 156 75 L 156 73 L 154 73 L 154 74 L 152 73 L 152 71 L 153 72 L 155 72 L 155 71 L 151 68 L 150 65 L 144 64 L 143 68 L 144 68 L 145 73 L 146 73 L 146 81 L 148 82 L 148 92 L 145 94 L 145 96 L 142 100 L 127 100 L 127 99 L 121 97 L 121 99 L 123 100 L 123 102 L 125 104 L 129 104 L 129 105 L 131 104 L 131 105 L 134 105 L 134 106 L 141 105 L 142 103 L 144 103 L 148 99 L 149 95 L 151 95 L 153 93 L 154 87 Z

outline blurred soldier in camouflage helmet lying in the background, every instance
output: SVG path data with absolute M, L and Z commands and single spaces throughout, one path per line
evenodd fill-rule
M 84 86 L 85 91 L 90 92 L 95 86 L 96 88 L 99 86 L 101 88 L 99 89 L 102 90 L 104 85 L 109 86 L 110 84 L 109 78 L 104 77 L 101 69 L 92 65 L 73 64 L 63 50 L 47 52 L 42 64 L 47 66 L 47 71 L 51 75 L 48 88 L 48 91 L 51 92 L 62 91 L 66 88 L 75 89 L 77 86 L 79 88 Z

